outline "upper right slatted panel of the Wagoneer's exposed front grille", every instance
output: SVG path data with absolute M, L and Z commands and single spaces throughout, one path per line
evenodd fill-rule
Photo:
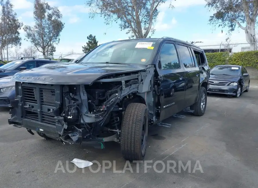
M 54 89 L 40 89 L 40 103 L 42 105 L 48 105 L 55 107 L 55 90 Z

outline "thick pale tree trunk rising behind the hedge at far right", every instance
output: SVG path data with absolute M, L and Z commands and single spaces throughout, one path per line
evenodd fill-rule
M 255 23 L 247 22 L 247 26 L 245 28 L 245 38 L 246 41 L 250 44 L 250 50 L 257 50 L 257 41 L 255 38 Z

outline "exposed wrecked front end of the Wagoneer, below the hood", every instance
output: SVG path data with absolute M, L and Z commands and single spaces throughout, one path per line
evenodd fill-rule
M 8 122 L 63 144 L 120 142 L 124 107 L 137 95 L 139 75 L 105 76 L 88 85 L 16 81 Z

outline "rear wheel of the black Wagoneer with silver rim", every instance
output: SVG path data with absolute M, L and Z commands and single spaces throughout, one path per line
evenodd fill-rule
M 204 99 L 202 99 L 203 97 Z M 206 105 L 207 105 L 207 91 L 205 87 L 201 87 L 198 100 L 196 101 L 196 103 L 190 106 L 190 109 L 193 110 L 193 114 L 195 116 L 203 116 L 206 110 Z

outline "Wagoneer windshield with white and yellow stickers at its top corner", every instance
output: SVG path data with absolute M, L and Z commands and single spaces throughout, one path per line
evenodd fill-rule
M 147 40 L 146 40 L 147 41 Z M 116 41 L 102 44 L 79 63 L 150 64 L 156 43 L 153 41 Z

